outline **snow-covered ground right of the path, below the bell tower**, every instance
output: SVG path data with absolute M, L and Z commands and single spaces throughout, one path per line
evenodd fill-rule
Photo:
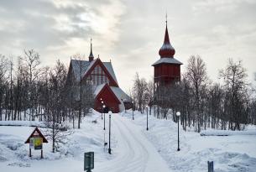
M 132 112 L 122 116 L 132 119 Z M 256 128 L 253 126 L 243 132 L 202 132 L 230 136 L 201 136 L 193 131 L 180 131 L 178 152 L 177 123 L 149 116 L 149 131 L 146 131 L 146 114 L 135 112 L 134 117 L 133 122 L 141 126 L 144 135 L 168 162 L 170 171 L 207 171 L 207 161 L 214 161 L 216 172 L 256 171 Z

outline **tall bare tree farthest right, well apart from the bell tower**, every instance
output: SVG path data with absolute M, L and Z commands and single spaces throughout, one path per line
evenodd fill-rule
M 248 75 L 243 68 L 242 61 L 234 62 L 229 59 L 227 67 L 220 70 L 219 76 L 225 82 L 225 112 L 230 117 L 229 128 L 240 130 L 240 123 L 246 123 L 248 117 L 246 104 Z

